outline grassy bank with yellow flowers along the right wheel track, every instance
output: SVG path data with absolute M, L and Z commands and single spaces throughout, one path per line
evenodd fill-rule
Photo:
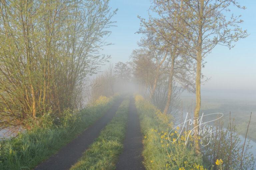
M 147 170 L 204 170 L 202 158 L 195 155 L 192 138 L 185 134 L 178 137 L 179 128 L 173 127 L 173 118 L 160 112 L 155 106 L 135 97 L 135 105 L 140 116 L 144 134 L 144 165 Z M 189 138 L 185 145 L 185 138 Z M 169 139 L 173 142 L 170 142 Z

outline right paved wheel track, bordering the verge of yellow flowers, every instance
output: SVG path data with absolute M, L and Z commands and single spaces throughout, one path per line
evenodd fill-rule
M 116 170 L 145 170 L 141 155 L 143 149 L 142 138 L 137 110 L 134 99 L 131 97 L 124 151 L 116 164 Z

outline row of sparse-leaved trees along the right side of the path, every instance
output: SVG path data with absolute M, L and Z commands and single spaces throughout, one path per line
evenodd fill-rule
M 141 48 L 132 54 L 136 76 L 153 101 L 159 96 L 157 89 L 168 84 L 165 114 L 170 111 L 176 82 L 195 91 L 194 118 L 199 117 L 204 58 L 216 45 L 230 49 L 233 42 L 248 36 L 240 27 L 241 16 L 230 13 L 232 8 L 245 9 L 236 0 L 153 0 L 149 19 L 138 17 L 138 33 L 144 36 Z

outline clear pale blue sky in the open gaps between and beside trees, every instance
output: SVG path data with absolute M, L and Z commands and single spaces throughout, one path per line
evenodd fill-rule
M 246 10 L 234 9 L 234 14 L 241 14 L 243 29 L 250 34 L 246 39 L 236 42 L 229 50 L 223 46 L 216 46 L 206 58 L 203 74 L 211 80 L 202 86 L 207 91 L 229 91 L 256 96 L 256 1 L 238 0 Z M 133 49 L 138 48 L 137 42 L 141 35 L 135 34 L 139 29 L 139 19 L 148 17 L 149 0 L 110 0 L 110 7 L 118 8 L 113 21 L 117 27 L 110 29 L 112 34 L 107 38 L 113 45 L 107 46 L 102 53 L 111 55 L 111 63 L 128 61 Z M 256 97 L 255 97 L 256 99 Z

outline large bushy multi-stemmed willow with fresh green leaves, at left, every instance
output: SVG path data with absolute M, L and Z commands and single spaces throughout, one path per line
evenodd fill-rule
M 108 0 L 0 1 L 0 128 L 77 108 L 112 26 Z M 32 119 L 31 119 L 32 118 Z

